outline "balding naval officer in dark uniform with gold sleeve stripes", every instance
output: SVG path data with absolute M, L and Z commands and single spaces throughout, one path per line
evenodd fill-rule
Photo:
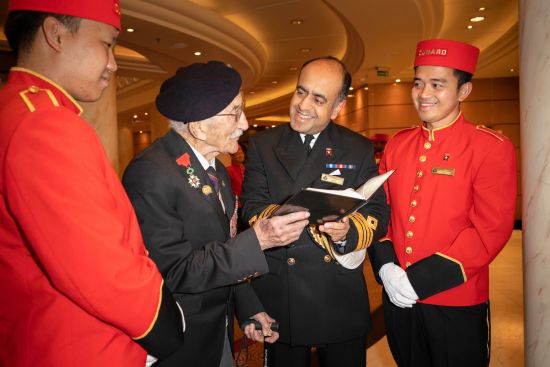
M 290 103 L 290 124 L 249 142 L 241 199 L 251 224 L 269 217 L 303 187 L 357 188 L 377 175 L 371 142 L 332 120 L 345 104 L 351 77 L 332 57 L 306 62 Z M 369 301 L 362 271 L 366 249 L 386 233 L 383 190 L 339 222 L 308 226 L 287 248 L 265 252 L 269 273 L 252 281 L 280 322 L 269 366 L 365 366 Z

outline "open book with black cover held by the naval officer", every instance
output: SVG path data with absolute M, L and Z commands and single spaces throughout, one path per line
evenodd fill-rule
M 394 171 L 374 176 L 357 190 L 325 190 L 308 187 L 298 191 L 285 201 L 273 215 L 284 215 L 301 210 L 309 211 L 309 223 L 336 222 L 359 210 L 386 182 Z

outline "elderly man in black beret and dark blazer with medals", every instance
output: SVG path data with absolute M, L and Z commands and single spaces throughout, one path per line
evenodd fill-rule
M 254 318 L 274 342 L 274 321 L 251 297 L 247 279 L 268 271 L 263 250 L 295 241 L 307 224 L 298 212 L 258 222 L 236 234 L 237 208 L 229 176 L 216 160 L 234 153 L 248 128 L 241 77 L 211 61 L 180 68 L 166 80 L 156 105 L 171 130 L 128 166 L 123 184 L 145 245 L 181 305 L 183 347 L 161 366 L 232 366 L 232 320 Z

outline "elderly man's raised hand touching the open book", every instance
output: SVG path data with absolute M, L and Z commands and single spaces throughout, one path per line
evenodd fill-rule
M 286 246 L 296 241 L 309 223 L 309 212 L 301 211 L 262 219 L 254 224 L 254 231 L 262 250 Z

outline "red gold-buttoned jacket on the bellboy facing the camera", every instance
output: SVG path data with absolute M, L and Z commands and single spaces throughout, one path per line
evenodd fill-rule
M 486 301 L 489 263 L 514 223 L 511 141 L 460 114 L 439 129 L 397 133 L 380 163 L 381 173 L 391 169 L 396 171 L 386 183 L 388 237 L 420 302 L 468 306 Z

